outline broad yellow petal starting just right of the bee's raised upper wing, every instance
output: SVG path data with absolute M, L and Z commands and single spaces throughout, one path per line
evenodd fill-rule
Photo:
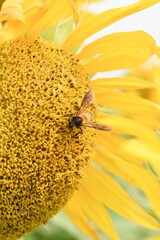
M 146 99 L 126 92 L 95 93 L 99 105 L 123 111 L 124 114 L 131 115 L 141 122 L 143 119 L 144 122 L 150 120 L 152 126 L 158 122 L 159 106 Z

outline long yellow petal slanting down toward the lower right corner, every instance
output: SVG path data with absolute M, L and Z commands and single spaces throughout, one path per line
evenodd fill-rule
M 94 198 L 103 202 L 116 213 L 146 227 L 159 229 L 159 224 L 155 219 L 140 208 L 121 186 L 104 172 L 92 167 L 85 186 L 87 188 L 93 186 Z

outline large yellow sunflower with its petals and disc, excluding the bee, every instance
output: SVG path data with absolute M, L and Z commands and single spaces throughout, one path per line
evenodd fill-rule
M 159 214 L 158 180 L 146 161 L 127 148 L 135 139 L 142 146 L 150 144 L 156 158 L 149 163 L 158 173 L 159 138 L 152 127 L 159 108 L 131 92 L 152 84 L 137 77 L 90 81 L 97 72 L 141 64 L 157 53 L 155 41 L 135 31 L 83 44 L 113 22 L 157 2 L 142 0 L 92 15 L 84 11 L 84 1 L 79 1 L 79 14 L 77 1 L 2 1 L 1 240 L 31 232 L 62 208 L 92 239 L 99 236 L 90 221 L 119 239 L 106 207 L 159 229 L 154 217 Z M 68 115 L 76 114 L 91 88 L 97 106 L 91 104 L 87 111 L 111 126 L 110 132 L 68 127 Z M 148 113 L 146 125 L 142 120 Z M 150 209 L 127 193 L 122 180 L 143 194 Z

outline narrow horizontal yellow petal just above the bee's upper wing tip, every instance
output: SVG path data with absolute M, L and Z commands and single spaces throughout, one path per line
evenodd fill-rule
M 91 81 L 95 91 L 105 92 L 108 89 L 137 90 L 143 88 L 154 88 L 154 84 L 136 77 L 100 78 Z

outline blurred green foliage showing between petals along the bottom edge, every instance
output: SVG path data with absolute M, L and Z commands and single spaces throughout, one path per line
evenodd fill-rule
M 110 212 L 110 216 L 118 231 L 121 240 L 147 240 L 152 236 L 160 236 L 160 232 L 132 223 L 117 214 Z M 96 226 L 94 226 L 96 229 Z M 102 240 L 110 240 L 99 229 L 98 231 Z M 21 238 L 21 240 L 91 240 L 80 232 L 69 218 L 60 212 L 54 218 L 51 218 L 46 225 L 41 226 L 36 231 Z

